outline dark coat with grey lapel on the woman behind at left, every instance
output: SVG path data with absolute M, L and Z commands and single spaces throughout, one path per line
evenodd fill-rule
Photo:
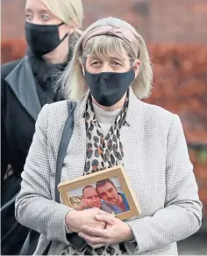
M 3 224 L 1 242 L 3 255 L 18 254 L 28 234 L 28 229 L 17 223 L 15 219 L 14 202 L 20 190 L 20 174 L 24 170 L 25 159 L 32 143 L 35 121 L 41 107 L 45 104 L 43 102 L 46 99 L 46 91 L 41 88 L 51 84 L 51 79 L 48 78 L 51 75 L 49 72 L 51 69 L 46 67 L 46 63 L 43 61 L 40 66 L 40 60 L 29 56 L 26 55 L 22 60 L 2 66 L 1 218 Z M 53 65 L 52 71 L 54 68 Z M 46 77 L 46 74 L 49 75 Z M 41 91 L 44 91 L 44 95 L 40 95 Z M 49 94 L 52 95 L 52 93 Z M 51 103 L 52 100 L 59 99 L 60 97 L 57 95 L 54 98 L 52 95 L 49 99 L 50 102 L 48 102 L 48 98 L 46 100 Z M 4 179 L 9 164 L 12 167 L 13 175 Z

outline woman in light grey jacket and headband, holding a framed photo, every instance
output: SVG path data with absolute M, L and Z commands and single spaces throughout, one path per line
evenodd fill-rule
M 124 165 L 141 215 L 121 221 L 98 208 L 82 211 L 54 201 L 56 158 L 68 118 L 67 101 L 43 107 L 16 202 L 19 223 L 41 236 L 35 254 L 171 255 L 176 242 L 199 229 L 202 205 L 182 123 L 140 99 L 153 72 L 146 43 L 128 23 L 103 18 L 83 33 L 62 77 L 77 101 L 74 132 L 61 181 Z M 87 245 L 75 251 L 77 233 Z

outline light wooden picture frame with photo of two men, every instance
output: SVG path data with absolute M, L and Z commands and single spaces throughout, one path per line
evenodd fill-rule
M 107 189 L 107 186 L 112 186 L 111 184 L 116 188 L 117 194 L 114 192 L 116 196 L 119 196 L 119 199 L 122 198 L 120 201 L 123 202 L 123 208 L 116 204 L 113 197 L 107 197 L 108 192 L 105 193 L 107 190 L 104 191 L 104 189 Z M 85 191 L 84 194 L 86 194 L 87 190 L 85 189 L 89 187 L 96 189 L 96 194 L 98 192 L 102 209 L 108 212 L 111 211 L 111 213 L 114 213 L 119 219 L 124 220 L 140 214 L 139 203 L 132 191 L 129 179 L 122 165 L 114 166 L 101 172 L 94 172 L 77 179 L 61 182 L 58 185 L 58 190 L 61 194 L 63 204 L 70 208 L 78 209 L 81 208 L 82 201 L 85 201 L 82 195 L 83 191 Z M 111 188 L 111 190 L 113 189 Z M 110 190 L 108 191 L 110 193 Z

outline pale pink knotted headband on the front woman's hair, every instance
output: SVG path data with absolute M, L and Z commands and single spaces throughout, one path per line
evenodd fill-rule
M 100 26 L 89 33 L 85 34 L 82 38 L 82 49 L 85 48 L 89 39 L 97 35 L 113 35 L 125 40 L 125 42 L 132 48 L 136 56 L 139 55 L 139 41 L 135 38 L 132 30 L 126 27 L 119 26 Z

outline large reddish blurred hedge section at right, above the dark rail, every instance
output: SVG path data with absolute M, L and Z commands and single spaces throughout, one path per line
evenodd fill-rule
M 153 45 L 152 96 L 146 101 L 178 113 L 188 142 L 207 144 L 207 46 Z

